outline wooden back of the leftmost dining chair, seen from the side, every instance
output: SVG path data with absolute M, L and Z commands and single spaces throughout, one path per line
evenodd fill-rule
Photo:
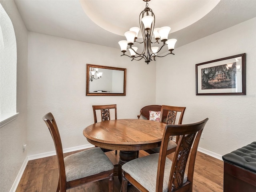
M 52 139 L 54 141 L 57 159 L 58 159 L 58 166 L 59 166 L 59 183 L 58 183 L 58 190 L 66 191 L 66 172 L 65 172 L 65 165 L 64 165 L 64 156 L 63 156 L 63 149 L 62 143 L 60 139 L 60 133 L 56 124 L 56 121 L 52 115 L 52 113 L 48 113 L 43 117 L 46 126 L 48 127 Z

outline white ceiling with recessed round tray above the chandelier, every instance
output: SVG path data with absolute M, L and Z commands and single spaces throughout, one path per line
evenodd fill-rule
M 139 27 L 142 0 L 14 0 L 31 32 L 119 48 Z M 256 0 L 151 0 L 156 27 L 170 26 L 176 48 L 256 17 Z

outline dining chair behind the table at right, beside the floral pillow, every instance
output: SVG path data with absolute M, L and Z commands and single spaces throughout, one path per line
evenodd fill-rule
M 182 124 L 182 119 L 184 116 L 185 109 L 186 107 L 162 105 L 161 112 L 160 112 L 160 122 L 166 123 L 167 125 Z M 167 115 L 165 115 L 166 113 Z M 179 138 L 180 136 L 177 135 L 176 141 L 174 142 L 172 140 L 172 137 L 170 137 L 168 142 L 168 154 L 171 154 L 176 150 L 176 146 L 178 144 Z M 145 151 L 148 152 L 149 154 L 159 153 L 160 147 L 148 149 Z

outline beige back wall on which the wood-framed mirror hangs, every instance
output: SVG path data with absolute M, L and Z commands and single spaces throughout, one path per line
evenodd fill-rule
M 156 64 L 132 61 L 119 49 L 29 32 L 28 155 L 54 150 L 42 120 L 52 112 L 63 148 L 88 144 L 83 129 L 92 124 L 92 105 L 117 104 L 118 118 L 137 118 L 155 103 Z M 127 68 L 126 96 L 86 96 L 86 63 Z M 104 78 L 104 76 L 102 77 Z

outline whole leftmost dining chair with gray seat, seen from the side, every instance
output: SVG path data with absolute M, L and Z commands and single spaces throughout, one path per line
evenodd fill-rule
M 108 191 L 113 192 L 114 166 L 100 148 L 90 148 L 64 158 L 60 133 L 52 113 L 43 117 L 54 141 L 58 167 L 59 182 L 56 192 L 108 178 Z

